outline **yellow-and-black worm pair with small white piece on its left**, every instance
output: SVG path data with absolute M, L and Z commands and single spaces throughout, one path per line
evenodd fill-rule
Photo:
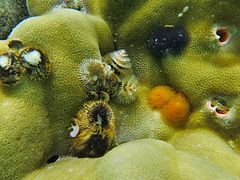
M 74 119 L 70 136 L 72 146 L 80 157 L 102 156 L 115 137 L 115 116 L 104 101 L 90 101 Z

